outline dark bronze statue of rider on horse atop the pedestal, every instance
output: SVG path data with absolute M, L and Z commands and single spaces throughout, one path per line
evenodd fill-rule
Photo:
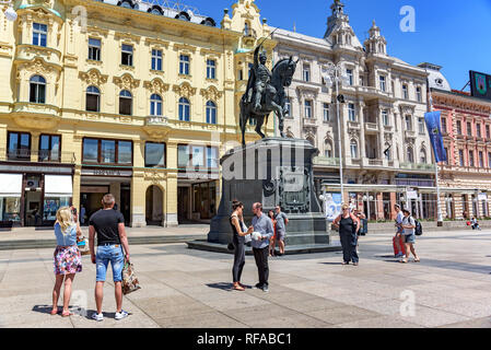
M 279 120 L 279 129 L 282 138 L 283 119 L 288 115 L 287 94 L 284 88 L 292 83 L 296 63 L 292 57 L 282 59 L 274 65 L 272 72 L 266 67 L 268 57 L 262 50 L 262 44 L 254 50 L 254 66 L 250 69 L 247 90 L 241 100 L 241 130 L 242 144 L 245 145 L 245 130 L 247 121 L 256 119 L 256 132 L 264 139 L 261 127 L 268 125 L 268 117 L 274 112 Z

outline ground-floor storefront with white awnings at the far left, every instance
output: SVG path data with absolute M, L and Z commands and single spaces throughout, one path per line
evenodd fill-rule
M 0 225 L 50 226 L 60 207 L 71 206 L 73 168 L 0 165 Z

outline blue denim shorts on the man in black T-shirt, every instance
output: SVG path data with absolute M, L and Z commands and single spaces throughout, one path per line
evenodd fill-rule
M 107 273 L 107 265 L 110 261 L 113 268 L 113 281 L 120 282 L 122 280 L 122 266 L 125 256 L 120 245 L 100 245 L 95 256 L 96 281 L 105 282 Z

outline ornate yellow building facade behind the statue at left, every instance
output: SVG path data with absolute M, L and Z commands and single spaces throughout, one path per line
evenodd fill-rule
M 14 9 L 15 22 L 0 15 L 1 225 L 49 225 L 63 205 L 86 223 L 105 192 L 131 226 L 211 219 L 252 51 L 270 34 L 254 1 L 218 26 L 133 0 Z

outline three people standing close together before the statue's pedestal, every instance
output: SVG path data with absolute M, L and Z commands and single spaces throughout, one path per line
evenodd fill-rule
M 288 217 L 281 212 L 280 207 L 276 208 L 276 215 L 271 214 L 272 211 L 266 215 L 262 212 L 262 205 L 257 202 L 253 205 L 253 224 L 247 229 L 244 223 L 244 205 L 234 200 L 232 210 L 230 222 L 233 231 L 234 245 L 234 265 L 232 268 L 233 289 L 236 291 L 245 291 L 246 289 L 241 283 L 241 277 L 245 265 L 245 245 L 247 242 L 250 242 L 259 278 L 259 282 L 255 287 L 261 289 L 264 292 L 269 292 L 268 257 L 274 254 L 277 242 L 280 246 L 280 256 L 284 254 Z

